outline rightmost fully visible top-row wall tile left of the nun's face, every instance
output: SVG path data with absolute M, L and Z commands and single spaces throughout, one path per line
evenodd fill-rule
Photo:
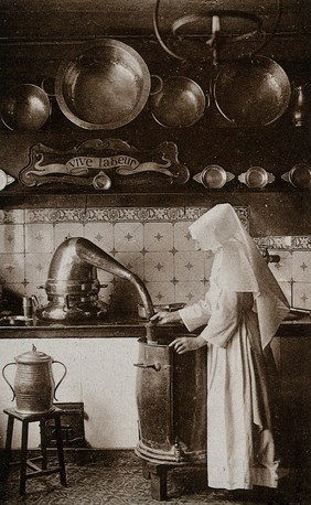
M 171 223 L 146 223 L 146 250 L 172 250 L 173 246 L 173 225 Z

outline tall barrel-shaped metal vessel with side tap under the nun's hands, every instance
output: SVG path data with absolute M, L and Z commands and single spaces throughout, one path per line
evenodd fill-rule
M 174 336 L 171 337 L 172 341 Z M 136 396 L 143 460 L 206 461 L 206 347 L 176 354 L 169 342 L 139 340 Z

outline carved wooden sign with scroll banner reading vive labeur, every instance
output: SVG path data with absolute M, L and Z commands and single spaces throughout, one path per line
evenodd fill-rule
M 174 142 L 143 151 L 121 139 L 94 139 L 66 151 L 42 143 L 33 146 L 30 162 L 19 179 L 26 186 L 62 182 L 109 190 L 116 174 L 128 176 L 142 172 L 160 173 L 176 184 L 184 184 L 190 176 L 187 168 L 178 160 Z

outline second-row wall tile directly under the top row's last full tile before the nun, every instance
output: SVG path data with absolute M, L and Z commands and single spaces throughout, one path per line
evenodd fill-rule
M 174 257 L 171 253 L 146 253 L 144 279 L 171 281 L 174 278 Z

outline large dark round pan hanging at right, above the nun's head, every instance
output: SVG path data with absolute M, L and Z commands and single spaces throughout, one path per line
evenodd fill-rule
M 265 56 L 222 65 L 214 82 L 219 112 L 238 126 L 266 126 L 279 119 L 291 99 L 283 68 Z

